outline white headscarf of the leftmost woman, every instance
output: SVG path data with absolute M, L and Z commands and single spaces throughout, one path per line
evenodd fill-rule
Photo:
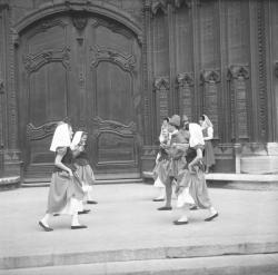
M 68 124 L 60 124 L 54 130 L 52 143 L 50 146 L 51 151 L 56 151 L 58 147 L 69 147 L 70 146 L 70 131 Z

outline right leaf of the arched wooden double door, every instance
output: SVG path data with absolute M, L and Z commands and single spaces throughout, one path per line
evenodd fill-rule
M 138 42 L 122 26 L 96 18 L 86 35 L 90 160 L 99 177 L 140 177 Z

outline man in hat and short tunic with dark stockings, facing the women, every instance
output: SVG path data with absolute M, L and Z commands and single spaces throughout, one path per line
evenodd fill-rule
M 171 132 L 171 139 L 169 145 L 165 145 L 163 148 L 167 153 L 167 158 L 160 167 L 160 179 L 166 186 L 166 205 L 158 208 L 158 210 L 171 210 L 171 195 L 172 183 L 178 178 L 179 170 L 185 166 L 183 154 L 185 148 L 177 146 L 186 144 L 186 139 L 179 131 L 180 117 L 173 115 L 169 119 L 169 131 Z

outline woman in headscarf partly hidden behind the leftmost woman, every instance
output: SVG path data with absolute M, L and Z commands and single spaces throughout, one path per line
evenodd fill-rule
M 88 134 L 86 131 L 77 131 L 71 141 L 71 150 L 73 151 L 73 163 L 77 168 L 76 173 L 82 181 L 82 188 L 86 194 L 87 204 L 98 204 L 92 200 L 92 185 L 95 184 L 95 175 L 89 164 L 88 156 L 85 151 Z M 83 210 L 85 212 L 85 210 Z

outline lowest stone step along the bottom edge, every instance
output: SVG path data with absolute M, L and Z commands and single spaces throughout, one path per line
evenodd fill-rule
M 0 275 L 277 275 L 278 254 L 171 258 L 0 271 Z

